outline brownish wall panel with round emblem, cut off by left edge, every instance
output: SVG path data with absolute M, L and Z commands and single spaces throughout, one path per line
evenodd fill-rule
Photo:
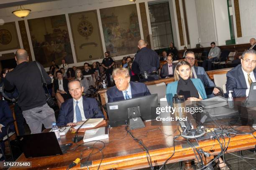
M 0 51 L 20 48 L 15 22 L 0 25 Z

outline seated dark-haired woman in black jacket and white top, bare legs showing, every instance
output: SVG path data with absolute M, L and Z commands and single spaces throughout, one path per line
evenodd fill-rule
M 59 108 L 61 107 L 61 104 L 65 101 L 71 98 L 69 94 L 69 88 L 68 83 L 69 80 L 63 78 L 62 72 L 59 70 L 56 72 L 57 79 L 54 80 L 54 92 L 55 97 L 58 102 Z

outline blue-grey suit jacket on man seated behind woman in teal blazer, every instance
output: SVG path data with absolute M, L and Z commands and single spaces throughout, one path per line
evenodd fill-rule
M 195 68 L 195 72 L 197 74 L 197 78 L 199 78 L 202 81 L 202 83 L 205 87 L 215 87 L 214 82 L 212 82 L 212 80 L 210 80 L 207 73 L 205 72 L 204 67 L 197 67 L 194 65 L 194 68 Z M 192 78 L 195 78 L 194 74 L 193 74 Z

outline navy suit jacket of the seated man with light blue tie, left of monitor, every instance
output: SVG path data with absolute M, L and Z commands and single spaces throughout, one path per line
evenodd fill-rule
M 93 114 L 96 113 L 93 118 L 104 118 L 103 113 L 98 106 L 98 102 L 93 98 L 83 97 L 83 108 L 84 108 L 84 116 L 85 118 L 93 117 Z M 74 121 L 74 104 L 73 98 L 66 100 L 61 104 L 61 108 L 59 110 L 59 117 L 57 120 L 58 126 L 65 126 L 70 122 Z

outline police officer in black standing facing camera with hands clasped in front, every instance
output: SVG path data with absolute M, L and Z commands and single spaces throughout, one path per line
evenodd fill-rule
M 102 60 L 102 67 L 105 68 L 108 85 L 110 85 L 110 75 L 113 72 L 113 59 L 110 57 L 110 52 L 105 52 L 105 58 Z

